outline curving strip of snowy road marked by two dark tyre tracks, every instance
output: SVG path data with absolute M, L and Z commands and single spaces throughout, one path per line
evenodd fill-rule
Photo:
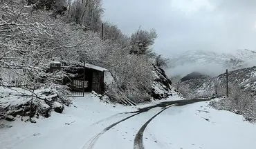
M 157 115 L 160 115 L 161 112 L 163 112 L 164 110 L 166 110 L 167 108 L 170 108 L 171 106 L 183 106 L 185 104 L 190 104 L 190 103 L 195 103 L 195 102 L 199 102 L 199 101 L 205 101 L 205 100 L 198 100 L 198 99 L 194 99 L 194 100 L 179 100 L 179 101 L 165 101 L 162 103 L 158 103 L 154 106 L 148 106 L 145 108 L 141 108 L 138 111 L 134 111 L 134 112 L 127 112 L 126 114 L 132 114 L 128 117 L 125 117 L 123 119 L 121 119 L 120 121 L 117 121 L 115 123 L 112 123 L 110 126 L 107 126 L 107 128 L 104 128 L 104 130 L 102 130 L 101 132 L 99 132 L 97 135 L 95 135 L 93 138 L 91 138 L 89 140 L 88 143 L 86 143 L 85 146 L 83 146 L 84 149 L 88 148 L 88 149 L 93 149 L 94 146 L 100 144 L 100 148 L 104 148 L 106 143 L 96 143 L 98 141 L 98 139 L 104 135 L 105 132 L 107 132 L 108 130 L 110 130 L 111 128 L 115 127 L 118 128 L 118 124 L 123 123 L 124 121 L 130 121 L 129 123 L 127 123 L 126 126 L 129 126 L 129 128 L 136 127 L 136 126 L 141 126 L 141 128 L 136 132 L 136 137 L 134 139 L 134 148 L 135 149 L 143 149 L 143 132 L 145 130 L 145 128 L 147 127 L 147 125 L 149 124 L 150 121 L 152 121 Z M 156 108 L 156 109 L 154 109 Z M 154 110 L 152 110 L 154 109 Z M 141 114 L 145 114 L 145 115 L 141 115 Z M 145 121 L 145 123 L 135 123 L 133 119 L 136 117 L 136 119 L 142 119 L 143 121 Z M 147 118 L 149 117 L 149 118 Z M 146 119 L 145 119 L 146 118 Z M 147 121 L 147 119 L 149 119 Z M 104 121 L 102 121 L 104 122 Z M 119 130 L 123 130 L 122 128 L 119 128 Z M 119 131 L 118 130 L 118 131 Z M 110 132 L 111 134 L 113 134 L 113 132 Z M 125 132 L 128 133 L 128 132 Z M 130 137 L 134 137 L 130 136 Z M 123 139 L 126 139 L 125 137 Z M 104 139 L 105 140 L 105 139 Z M 131 139 L 130 139 L 131 140 Z M 113 144 L 115 145 L 116 140 L 113 140 Z M 108 144 L 111 144 L 108 142 Z M 102 146 L 103 145 L 103 146 Z M 122 147 L 122 146 L 120 146 Z M 114 148 L 109 146 L 109 148 Z M 122 147 L 123 148 L 123 147 Z

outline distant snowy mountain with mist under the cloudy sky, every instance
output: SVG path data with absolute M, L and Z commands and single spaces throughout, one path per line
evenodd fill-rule
M 184 77 L 191 72 L 201 72 L 216 76 L 225 71 L 237 70 L 256 65 L 256 52 L 241 49 L 232 53 L 217 53 L 203 50 L 187 51 L 170 58 L 170 72 L 172 76 Z

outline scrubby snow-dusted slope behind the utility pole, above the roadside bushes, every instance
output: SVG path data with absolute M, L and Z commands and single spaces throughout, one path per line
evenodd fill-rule
M 256 98 L 256 66 L 228 72 L 228 82 L 230 86 L 236 86 L 241 88 L 241 90 L 246 90 Z M 223 73 L 218 77 L 210 79 L 183 81 L 180 84 L 180 89 L 186 97 L 212 97 L 215 92 L 225 94 L 225 92 L 221 91 L 225 86 L 226 74 Z

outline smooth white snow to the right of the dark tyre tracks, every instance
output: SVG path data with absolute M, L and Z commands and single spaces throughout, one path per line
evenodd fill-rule
M 145 148 L 256 148 L 255 124 L 232 112 L 214 110 L 208 103 L 174 106 L 162 112 L 147 126 Z

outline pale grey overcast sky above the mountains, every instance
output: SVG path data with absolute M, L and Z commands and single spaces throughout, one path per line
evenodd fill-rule
M 154 49 L 256 50 L 256 0 L 103 0 L 104 21 L 125 34 L 155 28 Z

